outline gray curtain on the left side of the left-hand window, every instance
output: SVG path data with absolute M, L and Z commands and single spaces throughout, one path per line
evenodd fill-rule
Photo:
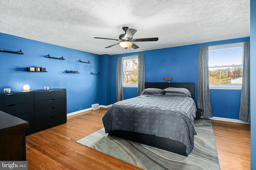
M 118 57 L 116 64 L 116 102 L 124 100 L 123 70 L 123 58 Z

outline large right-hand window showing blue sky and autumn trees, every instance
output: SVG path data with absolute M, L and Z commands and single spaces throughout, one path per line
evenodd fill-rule
M 244 43 L 209 46 L 210 89 L 241 89 Z

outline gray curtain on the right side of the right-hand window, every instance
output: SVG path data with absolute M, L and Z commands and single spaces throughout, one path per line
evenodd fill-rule
M 250 123 L 250 41 L 244 42 L 244 64 L 239 120 Z

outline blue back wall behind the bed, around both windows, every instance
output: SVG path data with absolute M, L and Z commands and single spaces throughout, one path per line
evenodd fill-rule
M 199 47 L 238 43 L 249 40 L 249 37 L 245 37 L 139 52 L 144 53 L 145 57 L 145 81 L 165 82 L 163 80 L 164 77 L 172 77 L 172 82 L 193 82 L 195 83 L 196 87 L 195 102 L 197 103 L 197 69 Z M 111 104 L 113 104 L 116 99 L 115 82 L 117 58 L 139 53 L 111 56 Z M 238 119 L 240 95 L 241 90 L 210 90 L 213 115 L 215 117 Z M 124 98 L 131 98 L 135 96 L 137 96 L 137 88 L 124 88 Z

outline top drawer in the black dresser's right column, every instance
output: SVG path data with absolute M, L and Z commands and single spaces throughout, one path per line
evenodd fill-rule
M 35 101 L 66 98 L 66 89 L 34 92 Z

